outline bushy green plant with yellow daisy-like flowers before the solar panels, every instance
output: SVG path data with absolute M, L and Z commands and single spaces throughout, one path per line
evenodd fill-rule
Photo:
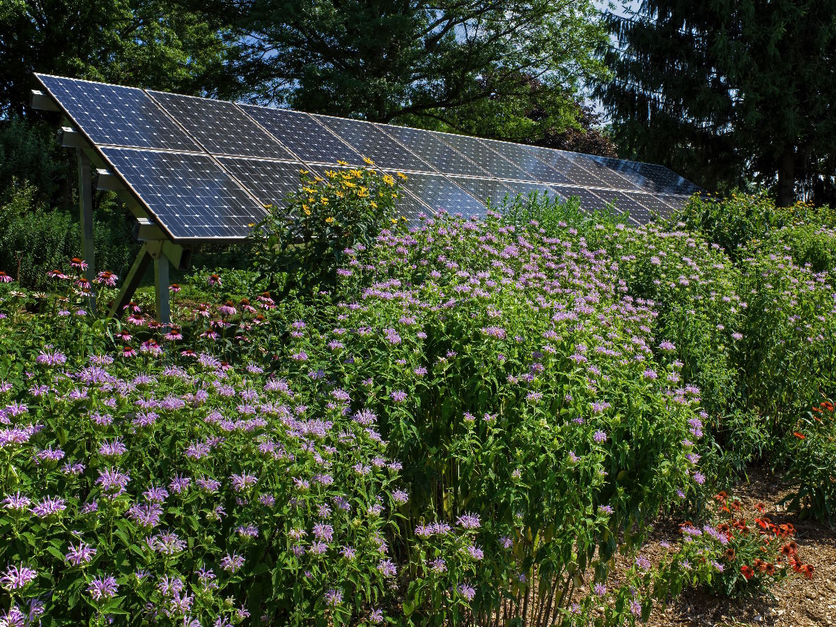
M 269 207 L 252 229 L 254 268 L 284 293 L 334 287 L 346 250 L 369 246 L 382 228 L 400 222 L 399 194 L 394 176 L 369 168 L 328 170 L 325 178 L 303 171 L 288 208 Z

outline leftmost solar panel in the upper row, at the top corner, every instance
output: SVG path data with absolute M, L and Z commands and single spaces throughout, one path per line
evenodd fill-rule
M 36 75 L 94 144 L 203 151 L 142 89 Z

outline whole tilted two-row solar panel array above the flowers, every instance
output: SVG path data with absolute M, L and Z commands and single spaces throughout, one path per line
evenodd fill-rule
M 645 224 L 701 191 L 664 166 L 36 74 L 69 120 L 176 241 L 240 240 L 338 162 L 405 172 L 398 209 L 483 216 L 506 196 L 578 196 Z

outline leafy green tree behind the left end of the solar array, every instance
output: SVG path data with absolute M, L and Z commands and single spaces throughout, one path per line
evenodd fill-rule
M 226 33 L 222 20 L 177 0 L 0 0 L 0 114 L 26 115 L 33 72 L 240 93 Z

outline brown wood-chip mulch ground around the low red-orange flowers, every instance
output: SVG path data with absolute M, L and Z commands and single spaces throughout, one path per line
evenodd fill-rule
M 755 599 L 721 599 L 689 590 L 663 608 L 656 605 L 650 627 L 696 627 L 699 625 L 780 625 L 787 627 L 836 627 L 836 531 L 810 520 L 798 520 L 793 512 L 781 506 L 789 493 L 780 477 L 763 469 L 749 472 L 748 481 L 734 491 L 742 502 L 747 517 L 756 515 L 755 504 L 766 505 L 764 515 L 772 523 L 793 523 L 798 533 L 798 555 L 815 567 L 812 581 L 791 577 L 772 589 L 773 596 Z M 658 526 L 642 553 L 653 560 L 663 549 L 659 543 L 675 542 L 678 530 L 674 525 Z M 622 567 L 628 563 L 619 564 Z M 616 566 L 614 576 L 618 576 Z

